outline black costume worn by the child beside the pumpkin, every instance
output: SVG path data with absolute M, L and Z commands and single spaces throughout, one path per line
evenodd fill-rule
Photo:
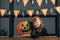
M 33 29 L 34 31 L 36 31 L 34 34 L 33 34 Z M 45 27 L 42 29 L 41 32 L 38 32 L 36 28 L 32 27 L 31 38 L 37 38 L 39 36 L 46 36 L 46 35 L 48 35 L 48 33 Z

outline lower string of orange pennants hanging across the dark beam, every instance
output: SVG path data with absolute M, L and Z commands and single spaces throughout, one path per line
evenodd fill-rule
M 56 11 L 60 14 L 60 6 L 55 7 L 55 9 L 56 9 Z M 46 16 L 48 9 L 47 9 L 47 8 L 41 9 L 41 11 L 42 11 L 43 15 Z M 6 12 L 7 12 L 6 9 L 0 9 L 0 15 L 1 15 L 1 16 L 4 16 L 4 15 L 6 14 Z M 15 15 L 15 17 L 18 17 L 18 15 L 19 15 L 20 12 L 21 12 L 21 10 L 14 10 L 14 15 Z M 33 15 L 33 13 L 34 13 L 34 10 L 26 10 L 26 12 L 27 12 L 27 14 L 29 15 L 29 17 L 31 17 L 31 16 Z M 10 12 L 9 12 L 9 13 L 10 13 Z M 38 15 L 40 15 L 40 14 L 39 14 L 39 11 L 36 11 L 36 13 L 37 13 Z M 23 14 L 23 15 L 24 15 L 24 14 Z

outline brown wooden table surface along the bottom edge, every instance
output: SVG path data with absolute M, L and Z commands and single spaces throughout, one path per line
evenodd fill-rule
M 36 39 L 30 37 L 0 37 L 0 40 L 60 40 L 60 38 L 56 36 L 41 36 Z

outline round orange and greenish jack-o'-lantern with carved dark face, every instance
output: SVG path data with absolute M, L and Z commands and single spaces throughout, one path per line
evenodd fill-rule
M 31 34 L 31 24 L 27 20 L 21 20 L 16 27 L 19 35 Z

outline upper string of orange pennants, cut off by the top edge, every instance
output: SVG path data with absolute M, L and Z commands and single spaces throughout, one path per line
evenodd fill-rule
M 10 3 L 12 3 L 12 1 L 13 0 L 9 0 L 9 2 Z M 19 3 L 21 0 L 16 0 L 16 2 L 17 3 Z M 28 4 L 28 2 L 29 2 L 29 0 L 22 0 L 23 1 L 23 5 L 24 5 L 24 7 Z M 37 4 L 38 4 L 38 6 L 40 7 L 41 5 L 42 5 L 42 2 L 43 2 L 44 0 L 36 0 L 36 2 L 37 2 Z M 50 0 L 52 3 L 53 3 L 53 5 L 55 5 L 55 2 L 56 2 L 56 0 Z M 34 0 L 32 0 L 32 5 L 34 4 Z M 48 0 L 45 0 L 45 2 L 46 2 L 46 4 L 48 3 Z

